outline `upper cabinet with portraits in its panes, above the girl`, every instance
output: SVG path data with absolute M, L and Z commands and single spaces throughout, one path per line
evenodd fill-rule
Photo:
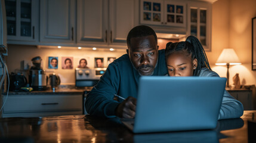
M 141 0 L 140 23 L 186 27 L 186 10 L 186 2 Z

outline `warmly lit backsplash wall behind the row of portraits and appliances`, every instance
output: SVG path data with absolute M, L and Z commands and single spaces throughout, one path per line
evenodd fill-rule
M 164 49 L 167 42 L 177 42 L 170 39 L 159 39 L 159 49 Z M 46 71 L 47 75 L 56 73 L 60 76 L 61 85 L 75 84 L 75 68 L 79 66 L 79 61 L 82 58 L 87 60 L 89 68 L 96 67 L 97 59 L 103 60 L 103 67 L 107 67 L 110 58 L 119 58 L 126 54 L 126 49 L 109 48 L 92 50 L 92 48 L 38 48 L 37 46 L 29 45 L 8 45 L 8 56 L 6 57 L 8 73 L 23 73 L 26 77 L 29 74 L 29 68 L 32 66 L 32 58 L 40 56 L 42 58 L 41 66 Z M 57 58 L 57 67 L 53 67 L 50 61 Z M 66 67 L 65 60 L 70 59 L 72 66 Z M 23 70 L 25 69 L 25 70 Z

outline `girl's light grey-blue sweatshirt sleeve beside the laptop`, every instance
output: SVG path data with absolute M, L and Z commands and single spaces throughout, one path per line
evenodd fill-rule
M 218 76 L 217 73 L 209 69 L 203 68 L 200 71 L 199 76 Z M 220 76 L 218 76 L 220 77 Z M 220 113 L 218 115 L 218 120 L 220 119 L 233 119 L 239 118 L 243 115 L 243 104 L 233 98 L 229 92 L 224 91 L 223 100 L 220 108 Z

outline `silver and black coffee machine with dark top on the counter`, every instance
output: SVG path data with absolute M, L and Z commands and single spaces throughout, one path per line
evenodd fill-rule
M 33 66 L 29 71 L 29 85 L 34 91 L 45 91 L 47 90 L 48 77 L 45 74 L 45 70 L 41 67 L 41 57 L 32 58 Z

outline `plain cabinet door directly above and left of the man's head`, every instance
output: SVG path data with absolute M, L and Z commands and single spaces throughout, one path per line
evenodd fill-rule
M 134 0 L 110 0 L 109 43 L 127 45 L 127 35 L 134 27 Z

